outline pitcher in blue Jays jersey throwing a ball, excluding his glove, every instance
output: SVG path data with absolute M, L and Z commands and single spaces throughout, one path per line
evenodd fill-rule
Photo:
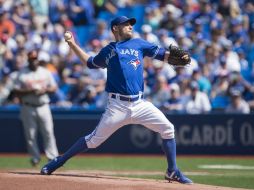
M 173 124 L 159 109 L 143 99 L 143 58 L 148 56 L 167 61 L 169 52 L 145 40 L 132 39 L 135 23 L 134 18 L 115 18 L 111 22 L 111 30 L 116 42 L 108 44 L 95 57 L 84 52 L 72 36 L 65 36 L 71 49 L 89 68 L 107 68 L 108 104 L 95 130 L 81 137 L 65 154 L 46 164 L 41 169 L 41 174 L 51 174 L 72 156 L 98 147 L 121 126 L 133 123 L 142 124 L 160 133 L 168 161 L 165 178 L 169 181 L 192 184 L 176 165 Z M 185 55 L 185 58 L 189 59 L 189 56 Z

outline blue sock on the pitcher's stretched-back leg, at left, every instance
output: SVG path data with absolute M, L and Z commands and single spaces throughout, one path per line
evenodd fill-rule
M 71 157 L 75 156 L 80 152 L 85 152 L 88 150 L 85 137 L 81 137 L 77 140 L 77 142 L 72 145 L 61 157 L 61 161 L 65 163 Z

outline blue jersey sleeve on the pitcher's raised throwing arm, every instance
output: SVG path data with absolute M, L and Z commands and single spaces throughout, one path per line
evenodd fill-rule
M 87 66 L 90 69 L 106 68 L 106 57 L 110 49 L 108 46 L 104 47 L 96 56 L 91 56 L 87 60 Z

